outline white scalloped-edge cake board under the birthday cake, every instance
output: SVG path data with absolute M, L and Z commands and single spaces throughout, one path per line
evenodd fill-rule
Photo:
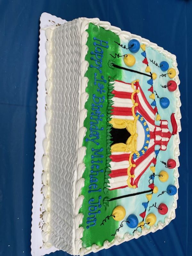
M 43 140 L 45 138 L 44 126 L 46 124 L 45 117 L 45 82 L 46 82 L 46 62 L 45 57 L 47 55 L 45 49 L 46 36 L 43 28 L 50 26 L 58 26 L 67 22 L 50 13 L 43 12 L 40 17 L 40 36 L 39 36 L 39 69 L 38 69 L 38 87 L 37 87 L 37 115 L 36 115 L 36 144 L 35 144 L 35 163 L 34 163 L 34 185 L 33 185 L 33 203 L 32 203 L 32 227 L 31 227 L 31 255 L 43 256 L 51 252 L 58 251 L 57 248 L 52 246 L 46 250 L 43 248 L 42 241 L 42 226 L 44 221 L 42 220 L 42 212 L 44 212 L 42 202 L 43 193 L 42 189 L 42 171 L 43 166 L 41 163 L 42 156 L 44 154 Z

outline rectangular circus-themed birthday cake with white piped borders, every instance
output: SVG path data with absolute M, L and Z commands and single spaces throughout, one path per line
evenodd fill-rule
M 45 33 L 44 248 L 84 255 L 164 228 L 179 188 L 175 55 L 97 18 Z

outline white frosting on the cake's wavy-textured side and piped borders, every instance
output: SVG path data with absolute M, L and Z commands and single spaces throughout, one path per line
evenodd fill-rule
M 61 25 L 59 27 L 48 28 L 46 30 L 46 36 L 48 38 L 48 41 L 46 44 L 46 49 L 47 49 L 47 53 L 48 53 L 48 56 L 46 58 L 46 63 L 47 63 L 47 69 L 46 69 L 46 76 L 47 76 L 46 118 L 47 118 L 47 124 L 45 126 L 46 139 L 44 140 L 44 143 L 43 143 L 45 156 L 43 156 L 43 158 L 42 158 L 42 164 L 44 166 L 44 173 L 42 175 L 42 180 L 43 180 L 43 184 L 45 185 L 43 188 L 43 193 L 44 193 L 44 197 L 45 197 L 43 205 L 44 205 L 46 212 L 44 212 L 44 214 L 43 214 L 45 224 L 43 227 L 42 237 L 43 237 L 43 241 L 44 241 L 44 248 L 50 248 L 51 242 L 52 242 L 57 248 L 67 251 L 71 254 L 75 254 L 75 255 L 76 254 L 84 255 L 84 254 L 88 254 L 90 252 L 97 252 L 97 251 L 102 250 L 103 248 L 108 249 L 109 247 L 111 247 L 113 245 L 118 245 L 118 244 L 123 243 L 124 241 L 129 241 L 132 238 L 138 238 L 142 235 L 148 234 L 149 232 L 155 232 L 158 229 L 164 228 L 164 226 L 168 225 L 169 222 L 175 218 L 175 209 L 177 207 L 177 199 L 178 199 L 178 194 L 173 196 L 174 202 L 172 204 L 172 212 L 170 214 L 170 218 L 165 218 L 164 223 L 158 222 L 158 224 L 156 226 L 151 226 L 149 229 L 144 227 L 142 229 L 141 233 L 139 231 L 136 231 L 136 232 L 134 232 L 133 236 L 130 234 L 124 234 L 124 238 L 120 238 L 117 235 L 112 242 L 105 241 L 103 246 L 98 246 L 96 244 L 93 244 L 89 248 L 82 247 L 81 237 L 83 236 L 83 227 L 79 228 L 79 225 L 82 224 L 83 214 L 79 213 L 79 209 L 81 208 L 83 200 L 84 200 L 84 196 L 80 195 L 81 188 L 84 186 L 84 179 L 82 178 L 82 175 L 85 170 L 83 158 L 84 158 L 85 152 L 86 152 L 86 148 L 82 147 L 82 141 L 83 141 L 83 138 L 84 138 L 85 132 L 86 132 L 86 129 L 83 127 L 83 123 L 84 123 L 84 119 L 86 118 L 86 114 L 87 114 L 87 110 L 84 108 L 84 104 L 85 104 L 86 100 L 88 99 L 88 95 L 85 92 L 85 89 L 86 89 L 86 86 L 88 83 L 88 78 L 84 77 L 84 75 L 85 75 L 85 72 L 87 71 L 87 68 L 89 65 L 89 63 L 87 61 L 85 61 L 85 56 L 88 52 L 88 47 L 86 46 L 88 33 L 85 30 L 88 28 L 90 22 L 92 22 L 93 24 L 95 24 L 97 26 L 103 27 L 106 30 L 111 30 L 116 35 L 118 35 L 121 38 L 121 40 L 137 39 L 140 43 L 146 44 L 147 47 L 150 46 L 153 49 L 156 49 L 157 51 L 164 54 L 164 56 L 170 58 L 172 60 L 172 66 L 176 70 L 176 76 L 175 76 L 174 80 L 177 83 L 177 85 L 180 84 L 180 80 L 178 77 L 179 71 L 177 69 L 177 62 L 176 62 L 175 55 L 165 51 L 162 47 L 157 46 L 157 44 L 151 43 L 149 40 L 147 40 L 145 38 L 141 38 L 140 36 L 133 35 L 130 32 L 121 31 L 120 28 L 111 26 L 109 22 L 100 21 L 97 18 L 94 18 L 94 19 L 79 18 L 77 20 L 73 20 L 73 21 L 68 22 L 64 25 Z M 53 32 L 55 32 L 54 33 L 54 44 L 57 44 L 56 40 L 55 40 L 56 35 L 58 36 L 58 38 L 60 38 L 59 33 L 61 33 L 62 35 L 65 35 L 65 36 L 62 36 L 62 44 L 58 44 L 58 47 L 60 47 L 60 48 L 57 48 L 57 50 L 55 50 L 55 52 L 54 52 L 55 46 L 53 47 L 53 45 L 52 45 L 53 44 L 53 41 L 52 41 Z M 76 36 L 77 34 L 79 36 Z M 69 42 L 70 42 L 70 44 L 69 44 Z M 76 61 L 75 62 L 74 62 L 74 60 L 71 61 L 71 58 L 74 59 L 74 57 L 72 57 L 70 54 L 68 56 L 65 56 L 65 59 L 64 59 L 64 56 L 62 56 L 62 54 L 61 54 L 62 53 L 61 50 L 63 50 L 64 46 L 66 46 L 67 49 L 69 49 L 71 47 L 70 45 L 73 45 L 73 42 L 75 42 L 75 45 L 76 45 L 76 49 L 75 49 L 76 50 Z M 66 50 L 63 50 L 63 51 L 64 51 L 64 53 L 67 54 Z M 70 48 L 70 51 L 73 51 L 73 49 Z M 68 51 L 68 52 L 70 52 L 70 51 Z M 60 52 L 59 55 L 57 55 L 58 52 Z M 56 59 L 56 57 L 57 57 L 57 59 Z M 75 149 L 74 149 L 74 156 L 76 155 L 77 158 L 73 159 L 70 156 L 68 156 L 68 159 L 65 158 L 66 161 L 68 160 L 68 165 L 65 167 L 63 166 L 62 170 L 61 170 L 61 171 L 65 170 L 66 174 L 63 172 L 62 172 L 62 174 L 65 175 L 66 178 L 71 177 L 70 182 L 66 182 L 66 178 L 64 178 L 63 176 L 61 176 L 60 179 L 59 179 L 59 177 L 57 177 L 55 179 L 55 181 L 54 181 L 54 178 L 52 179 L 53 173 L 54 173 L 53 170 L 55 168 L 55 166 L 54 166 L 55 162 L 50 161 L 50 158 L 53 157 L 53 154 L 51 154 L 52 149 L 54 148 L 54 150 L 56 151 L 55 155 L 57 155 L 59 152 L 57 145 L 54 145 L 54 140 L 51 141 L 52 136 L 57 137 L 57 136 L 62 136 L 62 134 L 64 134 L 62 127 L 60 125 L 57 126 L 57 124 L 56 124 L 56 126 L 54 126 L 54 129 L 56 129 L 56 130 L 54 130 L 54 134 L 52 135 L 52 131 L 53 131 L 52 125 L 55 123 L 50 124 L 52 118 L 55 118 L 55 113 L 57 113 L 55 111 L 58 111 L 58 113 L 59 113 L 59 110 L 64 111 L 62 109 L 63 102 L 62 102 L 62 104 L 60 102 L 58 102 L 57 99 L 55 98 L 54 94 L 52 94 L 52 87 L 53 87 L 53 84 L 56 82 L 56 80 L 53 79 L 54 73 L 52 73 L 52 72 L 53 72 L 53 70 L 54 70 L 54 72 L 57 70 L 56 69 L 57 64 L 60 63 L 61 58 L 62 58 L 62 61 L 64 61 L 64 63 L 66 64 L 66 68 L 69 68 L 69 70 L 75 69 L 76 72 L 74 72 L 73 74 L 71 74 L 68 71 L 62 73 L 61 70 L 64 70 L 64 69 L 59 69 L 57 74 L 58 75 L 60 75 L 60 73 L 67 74 L 66 75 L 67 77 L 64 77 L 64 80 L 63 80 L 63 84 L 65 84 L 65 85 L 68 84 L 67 79 L 69 79 L 69 81 L 71 81 L 71 77 L 74 77 L 74 75 L 77 75 L 75 77 L 75 79 L 78 77 L 78 81 L 76 81 L 76 91 L 79 90 L 77 96 L 75 96 L 71 92 L 68 92 L 65 94 L 66 98 L 68 98 L 68 96 L 71 97 L 70 100 L 73 100 L 75 97 L 78 97 L 78 98 L 76 98 L 76 101 L 78 102 L 78 107 L 77 107 L 77 111 L 76 111 L 75 115 L 73 115 L 74 113 L 72 111 L 73 118 L 75 118 L 75 120 L 76 120 L 76 117 L 77 117 L 76 131 L 78 131 L 78 132 L 73 133 L 74 137 L 77 135 L 76 143 L 75 143 L 76 145 L 75 145 Z M 58 68 L 61 68 L 61 67 L 58 67 Z M 79 75 L 78 75 L 78 71 L 80 71 Z M 75 84 L 75 80 L 73 80 L 73 82 Z M 58 91 L 57 94 L 59 94 L 59 93 L 62 93 L 62 90 Z M 181 102 L 180 102 L 180 92 L 179 92 L 178 86 L 174 93 L 175 93 L 175 97 L 176 97 L 176 108 L 177 108 L 175 117 L 176 117 L 176 121 L 177 121 L 177 125 L 178 125 L 178 132 L 180 132 L 181 131 L 181 126 L 180 126 Z M 55 106 L 52 105 L 53 102 L 56 104 L 60 104 L 59 110 L 57 109 L 56 104 L 55 104 Z M 65 102 L 65 104 L 67 104 L 67 103 Z M 67 105 L 67 106 L 69 107 L 69 105 Z M 71 108 L 71 106 L 70 106 L 70 108 Z M 153 116 L 154 116 L 153 113 L 150 113 L 150 115 L 153 118 Z M 115 118 L 115 116 L 113 116 L 113 117 Z M 124 118 L 124 116 L 122 118 Z M 63 119 L 63 120 L 65 120 L 65 119 Z M 68 125 L 67 125 L 68 127 L 66 127 L 66 129 L 67 129 L 66 132 L 68 132 L 68 134 L 69 134 L 69 129 L 71 129 L 71 127 L 73 125 L 74 125 L 74 123 L 68 123 Z M 50 143 L 50 142 L 52 142 L 52 143 Z M 177 164 L 176 165 L 177 167 L 174 170 L 174 177 L 175 177 L 174 185 L 177 188 L 179 188 L 179 183 L 178 183 L 178 177 L 179 177 L 178 156 L 180 155 L 179 143 L 180 143 L 179 133 L 177 133 L 177 135 L 174 136 L 174 145 L 175 145 L 174 155 L 175 155 L 175 161 Z M 58 161 L 60 161 L 60 164 L 63 165 L 62 164 L 63 162 L 61 159 L 63 159 L 65 157 L 65 154 L 61 153 L 60 157 L 61 158 Z M 72 163 L 72 164 L 70 165 L 69 163 Z M 50 165 L 51 165 L 51 168 L 50 168 Z M 57 170 L 57 173 L 58 173 L 58 170 Z M 57 175 L 57 173 L 55 172 L 54 174 Z M 50 180 L 50 178 L 51 178 L 51 180 Z M 66 186 L 66 190 L 64 189 L 65 191 L 62 190 L 62 188 L 64 187 L 62 184 L 63 182 Z M 51 188 L 51 191 L 48 188 L 49 186 Z M 63 192 L 66 193 L 65 196 L 64 196 Z M 63 202 L 65 201 L 63 204 L 62 204 L 62 200 L 63 200 Z M 59 202 L 58 205 L 56 204 L 57 201 Z M 71 204 L 71 205 L 69 205 L 69 204 Z M 63 210 L 63 211 L 61 211 L 61 210 Z M 64 220 L 62 222 L 59 222 L 59 220 L 62 219 L 61 217 Z M 59 227 L 57 226 L 57 223 L 60 225 Z M 55 231 L 54 231 L 54 229 L 55 229 Z M 67 233 L 66 233 L 66 230 L 67 230 Z

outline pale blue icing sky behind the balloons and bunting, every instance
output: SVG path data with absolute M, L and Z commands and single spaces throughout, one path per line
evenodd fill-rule
M 128 47 L 128 43 L 127 42 L 121 42 L 121 44 L 126 45 L 126 47 Z M 123 57 L 122 58 L 122 66 L 125 68 L 130 68 L 130 69 L 134 69 L 134 70 L 138 70 L 142 73 L 146 73 L 145 69 L 147 67 L 146 64 L 142 63 L 142 61 L 144 60 L 144 57 L 141 55 L 142 49 L 140 48 L 140 50 L 137 53 L 131 53 L 129 50 L 123 49 L 121 47 L 119 47 L 119 55 L 123 55 L 123 54 L 133 54 L 135 59 L 136 59 L 136 63 L 132 66 L 132 67 L 127 67 L 123 61 Z M 169 64 L 169 68 L 172 68 L 172 60 L 168 59 L 167 57 L 165 57 L 162 53 L 158 52 L 157 50 L 152 49 L 151 47 L 146 47 L 146 57 L 148 59 L 148 65 L 151 68 L 151 73 L 156 73 L 157 74 L 157 78 L 156 80 L 154 80 L 153 83 L 153 88 L 154 90 L 157 92 L 159 97 L 167 97 L 170 100 L 170 105 L 168 108 L 163 109 L 161 108 L 160 104 L 159 104 L 159 99 L 157 99 L 156 97 L 156 106 L 158 109 L 158 113 L 161 116 L 162 120 L 167 120 L 168 121 L 168 127 L 170 132 L 172 132 L 172 125 L 171 125 L 171 114 L 172 113 L 176 113 L 176 99 L 174 97 L 174 92 L 169 92 L 167 88 L 162 88 L 161 85 L 166 85 L 167 82 L 169 80 L 174 80 L 174 78 L 170 79 L 168 77 L 168 75 L 166 77 L 159 77 L 161 74 L 166 74 L 168 73 L 167 71 L 163 72 L 159 67 L 157 67 L 155 64 L 153 64 L 152 62 L 150 62 L 149 59 L 151 60 L 155 60 L 155 62 L 157 62 L 157 64 L 160 66 L 160 62 L 161 61 L 167 61 Z M 149 74 L 149 73 L 148 73 Z M 147 83 L 147 81 L 150 79 L 150 77 L 147 76 L 143 76 L 137 73 L 133 73 L 133 72 L 129 72 L 129 71 L 123 71 L 123 81 L 124 82 L 128 82 L 131 83 L 132 81 L 139 79 L 139 83 L 140 86 L 143 90 L 143 92 L 145 93 L 146 98 L 148 99 L 149 103 L 151 103 L 153 100 L 149 99 L 149 95 L 151 94 L 151 92 L 148 91 L 148 89 L 150 88 L 150 85 Z M 156 121 L 156 124 L 158 125 L 159 122 Z M 166 151 L 160 151 L 158 156 L 157 156 L 157 163 L 156 163 L 156 174 L 159 174 L 160 171 L 164 170 L 166 172 L 168 172 L 169 174 L 169 179 L 166 182 L 161 182 L 158 178 L 158 176 L 155 177 L 154 179 L 154 184 L 158 187 L 159 191 L 157 192 L 157 194 L 153 194 L 151 201 L 149 201 L 148 204 L 148 208 L 147 208 L 147 212 L 146 212 L 146 216 L 148 215 L 148 213 L 154 213 L 157 217 L 157 221 L 156 224 L 158 223 L 158 221 L 164 222 L 164 218 L 165 217 L 170 217 L 171 214 L 171 208 L 172 208 L 172 203 L 173 203 L 173 196 L 169 196 L 167 193 L 164 193 L 163 195 L 157 197 L 162 191 L 166 190 L 167 186 L 169 184 L 174 184 L 174 176 L 173 176 L 173 171 L 174 169 L 168 169 L 165 168 L 164 164 L 162 164 L 160 161 L 164 161 L 167 162 L 167 160 L 169 158 L 174 158 L 173 155 L 173 151 L 174 151 L 174 136 L 171 137 L 168 146 L 167 146 L 167 150 Z M 122 196 L 122 195 L 127 195 L 127 194 L 131 194 L 131 193 L 137 193 L 140 191 L 145 191 L 148 190 L 150 188 L 148 188 L 149 185 L 149 176 L 152 174 L 151 170 L 148 168 L 146 170 L 146 172 L 142 175 L 142 177 L 140 178 L 140 181 L 138 183 L 138 188 L 136 189 L 132 189 L 132 188 L 123 188 L 123 189 L 118 189 L 118 196 Z M 142 218 L 139 216 L 139 214 L 141 212 L 144 212 L 144 207 L 142 205 L 143 202 L 147 202 L 147 198 L 146 198 L 146 194 L 141 194 L 138 196 L 132 196 L 132 197 L 127 197 L 127 198 L 123 198 L 121 200 L 118 200 L 118 205 L 122 205 L 124 206 L 125 210 L 126 210 L 126 216 L 124 218 L 124 220 L 126 220 L 126 218 L 130 215 L 130 214 L 135 214 L 138 217 L 139 222 L 142 221 Z M 156 204 L 156 206 L 158 207 L 160 203 L 164 203 L 167 205 L 168 207 L 168 212 L 166 215 L 161 215 L 158 213 L 158 210 L 153 207 L 149 210 L 149 206 Z M 120 222 L 119 222 L 120 225 Z M 145 225 L 147 228 L 149 228 L 148 225 Z M 141 231 L 141 228 L 138 228 L 139 231 Z M 134 231 L 134 228 L 129 228 L 126 223 L 124 223 L 124 226 L 122 228 L 120 228 L 118 235 L 123 236 L 124 233 L 130 233 L 132 234 L 132 232 Z

